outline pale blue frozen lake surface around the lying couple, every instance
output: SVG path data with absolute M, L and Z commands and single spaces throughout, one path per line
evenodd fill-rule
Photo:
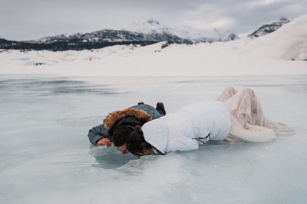
M 138 101 L 167 112 L 252 88 L 296 134 L 268 143 L 122 155 L 88 130 Z M 307 76 L 0 75 L 0 203 L 307 203 Z

